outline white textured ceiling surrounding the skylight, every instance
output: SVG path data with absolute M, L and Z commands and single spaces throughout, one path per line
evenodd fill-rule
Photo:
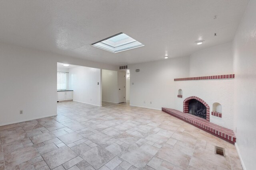
M 0 43 L 116 65 L 183 57 L 232 41 L 248 1 L 2 0 Z M 91 45 L 120 32 L 145 46 L 111 53 Z

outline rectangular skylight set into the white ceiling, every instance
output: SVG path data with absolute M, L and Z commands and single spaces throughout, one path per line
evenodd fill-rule
M 96 43 L 93 43 L 92 45 L 94 47 L 110 51 L 112 53 L 118 53 L 121 51 L 144 46 L 142 43 L 136 41 L 135 39 L 129 37 L 124 33 L 118 33 L 111 37 L 102 39 Z

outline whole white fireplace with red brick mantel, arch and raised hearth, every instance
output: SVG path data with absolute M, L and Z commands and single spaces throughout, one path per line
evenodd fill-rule
M 174 109 L 162 107 L 162 111 L 234 144 L 233 101 L 230 100 L 234 77 L 234 74 L 226 74 L 175 78 L 178 98 L 174 101 Z

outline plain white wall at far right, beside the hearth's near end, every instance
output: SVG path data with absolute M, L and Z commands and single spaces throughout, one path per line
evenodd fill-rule
M 256 1 L 251 0 L 234 38 L 236 147 L 244 170 L 256 167 Z

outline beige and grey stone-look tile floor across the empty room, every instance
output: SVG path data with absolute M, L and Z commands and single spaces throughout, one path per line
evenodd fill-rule
M 180 119 L 102 105 L 61 102 L 58 116 L 0 127 L 0 170 L 242 170 L 234 145 Z

